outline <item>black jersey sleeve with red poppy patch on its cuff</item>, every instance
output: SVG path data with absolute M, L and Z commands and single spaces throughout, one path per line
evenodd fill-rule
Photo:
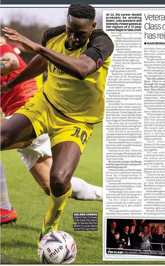
M 101 29 L 96 29 L 90 36 L 87 50 L 83 53 L 96 63 L 96 71 L 102 66 L 106 59 L 112 54 L 114 44 L 110 37 Z

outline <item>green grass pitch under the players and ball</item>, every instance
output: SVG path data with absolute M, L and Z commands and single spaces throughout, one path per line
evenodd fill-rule
M 11 205 L 18 215 L 17 224 L 1 226 L 1 264 L 39 264 L 37 240 L 49 197 L 26 169 L 16 150 L 1 152 Z M 102 123 L 94 126 L 74 176 L 102 186 Z M 98 231 L 81 232 L 72 228 L 74 212 L 98 212 Z M 102 261 L 102 203 L 69 199 L 58 230 L 70 233 L 77 245 L 75 264 L 127 264 L 127 261 Z M 131 264 L 151 264 L 151 261 Z M 154 262 L 160 264 L 164 262 Z

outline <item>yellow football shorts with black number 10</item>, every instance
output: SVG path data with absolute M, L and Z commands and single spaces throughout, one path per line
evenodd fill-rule
M 30 119 L 37 137 L 48 133 L 51 147 L 63 141 L 74 141 L 82 153 L 93 131 L 93 125 L 67 118 L 53 109 L 43 95 L 43 88 L 38 89 L 29 102 L 15 113 Z

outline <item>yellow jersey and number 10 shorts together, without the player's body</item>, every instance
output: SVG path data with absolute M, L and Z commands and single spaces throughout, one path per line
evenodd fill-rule
M 106 50 L 105 46 L 101 46 L 104 39 L 107 46 L 113 47 L 108 35 L 101 29 L 95 29 L 79 49 L 66 49 L 66 25 L 44 32 L 43 46 L 75 58 L 86 54 L 97 64 L 97 70 L 81 81 L 48 62 L 44 89 L 34 93 L 34 97 L 29 100 L 30 105 L 27 103 L 17 111 L 30 119 L 37 137 L 48 133 L 51 147 L 62 141 L 75 141 L 82 152 L 92 134 L 93 124 L 103 119 L 105 78 L 110 64 L 109 54 L 112 52 L 112 48 L 109 51 L 108 47 Z M 47 108 L 48 112 L 44 112 Z

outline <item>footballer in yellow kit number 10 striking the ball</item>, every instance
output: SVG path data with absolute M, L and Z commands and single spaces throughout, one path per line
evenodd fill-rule
M 57 230 L 60 215 L 72 192 L 70 179 L 92 134 L 93 124 L 104 115 L 105 78 L 114 45 L 96 28 L 95 10 L 84 3 L 70 5 L 67 24 L 46 30 L 42 46 L 14 30 L 3 31 L 38 55 L 13 83 L 41 74 L 48 68 L 44 88 L 39 89 L 1 129 L 2 148 L 48 133 L 53 164 L 50 202 L 40 238 Z M 12 130 L 8 132 L 10 128 Z M 19 129 L 18 129 L 19 128 Z

